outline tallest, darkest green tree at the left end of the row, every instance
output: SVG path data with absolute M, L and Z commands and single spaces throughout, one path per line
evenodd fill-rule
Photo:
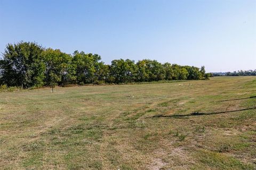
M 42 46 L 36 43 L 8 44 L 0 62 L 1 82 L 21 88 L 43 86 L 45 65 L 42 51 Z

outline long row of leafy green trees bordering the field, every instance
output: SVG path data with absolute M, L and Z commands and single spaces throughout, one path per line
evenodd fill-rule
M 0 85 L 32 88 L 66 84 L 150 82 L 160 80 L 205 80 L 204 66 L 159 63 L 156 60 L 113 60 L 110 65 L 98 54 L 76 50 L 66 54 L 37 43 L 7 44 L 0 60 Z

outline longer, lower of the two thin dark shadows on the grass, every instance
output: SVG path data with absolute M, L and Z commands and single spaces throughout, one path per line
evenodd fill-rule
M 238 110 L 234 110 L 234 111 L 223 111 L 223 112 L 212 112 L 212 113 L 193 112 L 193 113 L 185 114 L 185 115 L 155 115 L 155 116 L 152 116 L 151 118 L 157 118 L 157 117 L 170 117 L 170 118 L 174 117 L 174 118 L 179 118 L 179 117 L 186 117 L 186 116 L 215 115 L 215 114 L 221 114 L 221 113 L 231 113 L 231 112 L 247 111 L 247 110 L 251 110 L 251 109 L 256 109 L 256 107 L 238 109 Z

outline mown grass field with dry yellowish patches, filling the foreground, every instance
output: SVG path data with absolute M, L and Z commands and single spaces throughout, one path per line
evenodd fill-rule
M 256 168 L 256 77 L 0 96 L 0 169 Z

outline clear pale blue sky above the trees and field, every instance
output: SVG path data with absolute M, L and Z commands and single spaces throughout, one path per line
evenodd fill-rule
M 107 64 L 149 58 L 207 72 L 256 69 L 256 0 L 0 0 L 0 52 L 21 40 L 97 53 Z

